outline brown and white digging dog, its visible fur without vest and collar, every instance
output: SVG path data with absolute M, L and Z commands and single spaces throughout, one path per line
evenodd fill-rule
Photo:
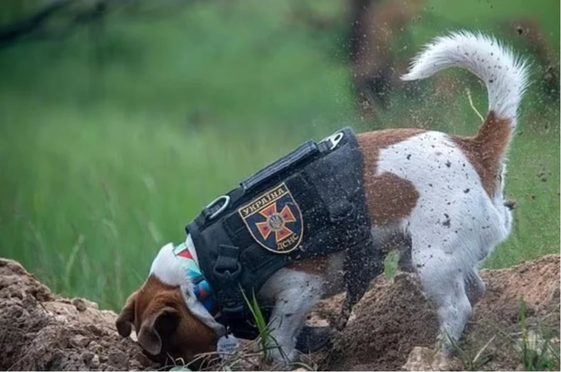
M 401 263 L 418 273 L 438 306 L 440 345 L 449 351 L 485 286 L 478 268 L 507 238 L 512 216 L 503 196 L 505 154 L 516 129 L 526 69 L 511 50 L 489 36 L 457 32 L 437 38 L 415 58 L 403 80 L 429 77 L 448 67 L 466 68 L 489 94 L 489 113 L 474 137 L 423 129 L 388 129 L 357 136 L 364 158 L 364 185 L 377 244 L 396 234 L 410 241 Z M 189 250 L 196 248 L 188 237 Z M 160 250 L 144 286 L 117 319 L 131 326 L 153 355 L 191 359 L 213 350 L 222 325 L 197 301 L 176 263 L 173 245 Z M 257 294 L 274 302 L 275 360 L 292 360 L 306 315 L 325 290 L 342 281 L 341 253 L 291 264 Z M 340 287 L 341 289 L 343 286 Z

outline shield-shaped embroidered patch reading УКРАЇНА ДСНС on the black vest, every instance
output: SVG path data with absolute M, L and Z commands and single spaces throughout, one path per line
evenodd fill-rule
M 271 252 L 292 252 L 302 241 L 302 213 L 284 183 L 253 199 L 238 213 L 255 241 Z

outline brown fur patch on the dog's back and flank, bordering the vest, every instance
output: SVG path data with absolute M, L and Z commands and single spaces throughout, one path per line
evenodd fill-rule
M 387 129 L 358 134 L 358 145 L 364 158 L 366 202 L 373 225 L 401 220 L 411 213 L 419 199 L 419 192 L 410 181 L 391 173 L 375 175 L 380 150 L 423 132 L 424 129 Z

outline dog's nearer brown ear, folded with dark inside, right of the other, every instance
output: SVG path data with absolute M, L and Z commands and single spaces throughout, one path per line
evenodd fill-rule
M 151 314 L 142 321 L 137 335 L 140 346 L 151 355 L 158 355 L 162 351 L 162 339 L 167 339 L 177 328 L 181 320 L 178 311 L 166 306 Z

